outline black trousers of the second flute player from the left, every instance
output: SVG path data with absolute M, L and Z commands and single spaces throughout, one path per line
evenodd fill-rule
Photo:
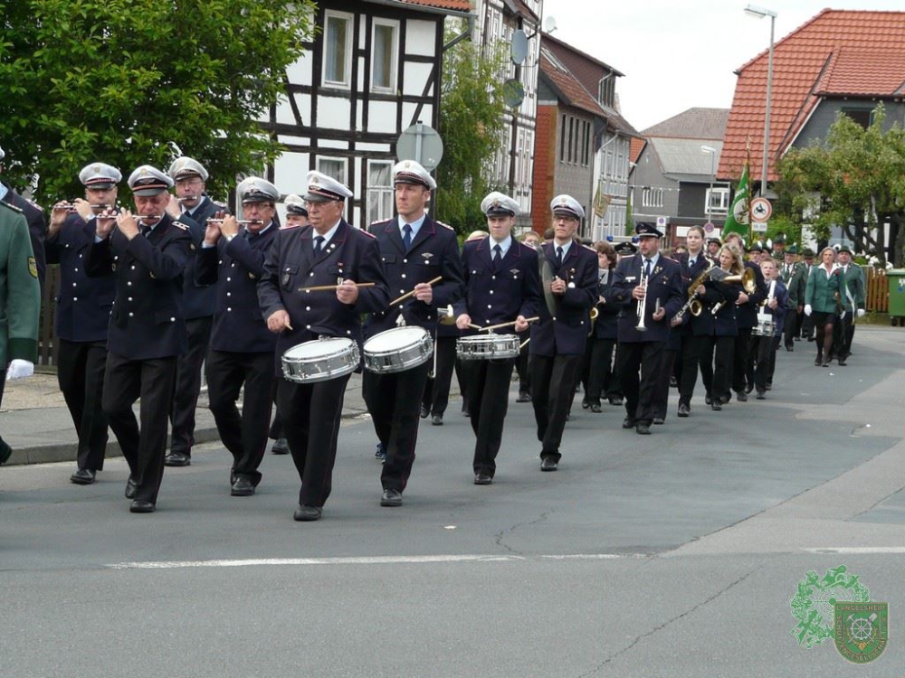
M 135 499 L 157 502 L 167 452 L 167 416 L 173 404 L 176 356 L 128 360 L 107 353 L 103 410 L 136 485 Z M 132 404 L 141 399 L 141 430 Z

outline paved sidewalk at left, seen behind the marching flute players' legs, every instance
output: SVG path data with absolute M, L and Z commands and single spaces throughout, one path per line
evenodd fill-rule
M 138 417 L 138 406 L 135 411 Z M 367 408 L 361 396 L 361 375 L 353 374 L 348 382 L 342 416 L 345 419 L 365 412 Z M 196 444 L 219 439 L 214 416 L 207 409 L 205 392 L 198 399 L 195 417 Z M 6 466 L 75 461 L 78 439 L 69 410 L 66 409 L 57 386 L 56 374 L 36 372 L 28 379 L 6 382 L 3 409 L 0 410 L 0 436 L 13 447 L 13 456 L 6 462 Z M 110 433 L 107 457 L 120 455 L 119 443 Z

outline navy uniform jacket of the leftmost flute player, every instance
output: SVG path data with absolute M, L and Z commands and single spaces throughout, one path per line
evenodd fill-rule
M 68 342 L 106 342 L 116 283 L 113 273 L 88 277 L 88 255 L 96 221 L 70 214 L 62 228 L 44 241 L 47 262 L 60 264 L 56 297 L 56 335 Z

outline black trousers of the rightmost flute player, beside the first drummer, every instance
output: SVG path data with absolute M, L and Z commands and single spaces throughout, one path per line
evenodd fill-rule
M 261 482 L 258 466 L 267 447 L 271 402 L 276 386 L 273 353 L 207 354 L 207 394 L 217 432 L 233 454 L 233 475 L 254 485 Z M 242 415 L 235 406 L 244 384 Z

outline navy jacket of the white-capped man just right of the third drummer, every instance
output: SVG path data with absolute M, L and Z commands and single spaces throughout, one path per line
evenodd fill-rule
M 556 314 L 550 315 L 547 304 L 538 306 L 540 320 L 531 325 L 531 355 L 581 355 L 591 322 L 591 307 L 597 303 L 597 254 L 573 242 L 557 267 L 555 245 L 543 246 L 543 256 L 553 268 L 553 274 L 575 287 L 567 287 L 562 295 L 553 295 Z

